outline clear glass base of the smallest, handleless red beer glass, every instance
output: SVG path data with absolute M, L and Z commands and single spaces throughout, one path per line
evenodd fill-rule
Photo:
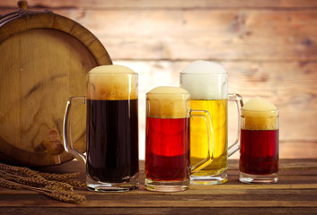
M 278 173 L 268 175 L 251 175 L 240 172 L 239 181 L 246 184 L 272 184 L 277 183 Z

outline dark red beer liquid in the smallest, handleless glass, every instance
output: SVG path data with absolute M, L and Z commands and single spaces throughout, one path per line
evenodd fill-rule
M 241 130 L 240 171 L 267 175 L 278 171 L 278 129 Z

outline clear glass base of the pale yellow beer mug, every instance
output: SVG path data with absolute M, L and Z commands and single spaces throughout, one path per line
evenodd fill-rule
M 220 185 L 228 181 L 228 174 L 225 172 L 215 176 L 190 176 L 190 185 Z

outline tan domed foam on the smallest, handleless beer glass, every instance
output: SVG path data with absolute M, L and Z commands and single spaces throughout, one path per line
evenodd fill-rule
M 260 97 L 250 99 L 242 107 L 245 118 L 245 130 L 276 130 L 278 129 L 277 107 Z

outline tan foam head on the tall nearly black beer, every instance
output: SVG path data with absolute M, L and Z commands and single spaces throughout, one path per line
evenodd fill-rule
M 118 64 L 101 65 L 87 74 L 87 99 L 137 99 L 137 73 Z

